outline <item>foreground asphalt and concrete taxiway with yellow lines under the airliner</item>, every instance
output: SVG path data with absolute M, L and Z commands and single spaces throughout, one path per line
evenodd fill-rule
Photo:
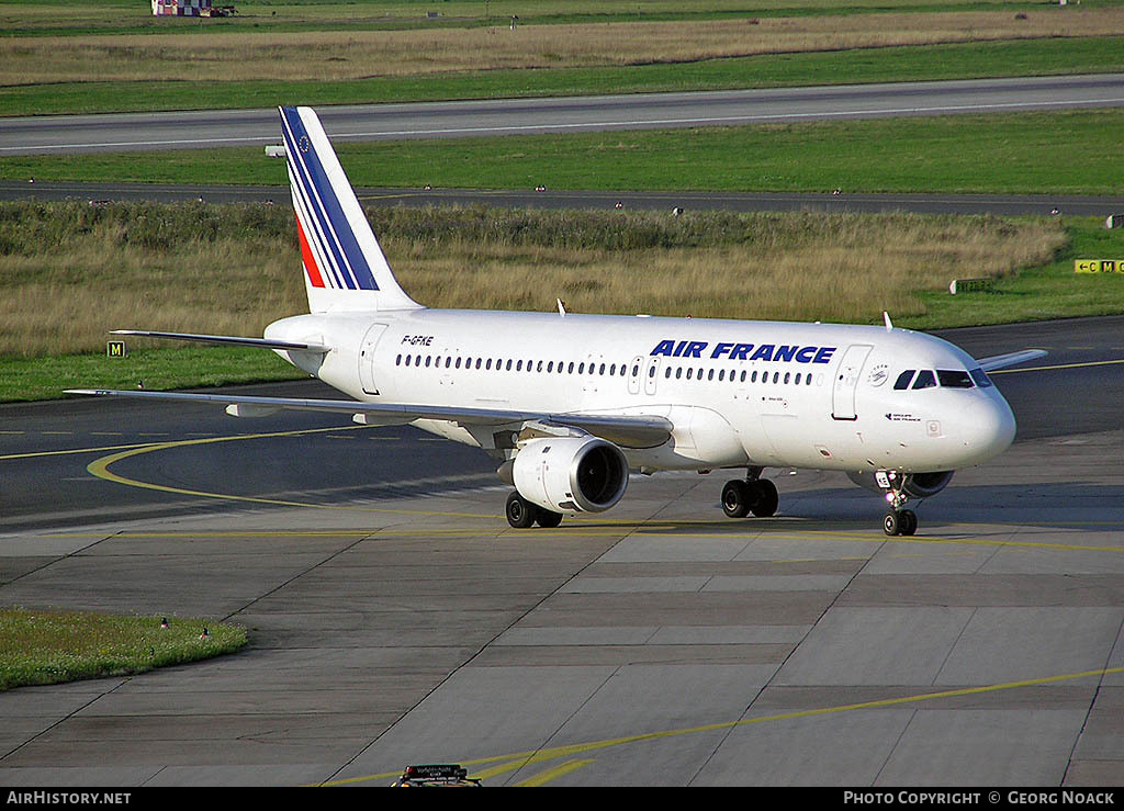
M 0 693 L 0 784 L 1124 784 L 1122 334 L 946 334 L 1050 355 L 995 375 L 1019 438 L 914 538 L 830 474 L 770 471 L 772 519 L 725 519 L 715 472 L 516 531 L 486 456 L 411 429 L 0 407 L 0 604 L 252 639 Z

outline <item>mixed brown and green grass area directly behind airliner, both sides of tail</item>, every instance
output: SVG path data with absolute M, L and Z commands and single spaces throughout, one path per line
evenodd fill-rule
M 405 289 L 432 307 L 948 327 L 1124 310 L 1124 280 L 1072 258 L 1124 255 L 1094 220 L 727 212 L 370 209 Z M 0 399 L 299 376 L 271 353 L 191 346 L 105 357 L 107 330 L 261 335 L 306 311 L 280 207 L 0 206 Z M 58 246 L 64 246 L 60 249 Z M 1093 257 L 1093 256 L 1088 256 Z M 999 276 L 957 297 L 954 277 Z M 147 343 L 152 346 L 152 343 Z

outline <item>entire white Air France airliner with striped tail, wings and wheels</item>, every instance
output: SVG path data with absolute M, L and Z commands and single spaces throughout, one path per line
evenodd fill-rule
M 399 286 L 315 111 L 282 107 L 309 312 L 262 338 L 114 330 L 272 349 L 352 400 L 218 393 L 72 393 L 218 403 L 235 417 L 341 412 L 414 425 L 481 448 L 513 487 L 515 528 L 598 513 L 634 473 L 744 471 L 731 518 L 772 516 L 765 468 L 840 471 L 881 493 L 887 535 L 913 535 L 910 501 L 1006 449 L 1015 418 L 981 361 L 882 326 L 558 311 L 436 310 Z

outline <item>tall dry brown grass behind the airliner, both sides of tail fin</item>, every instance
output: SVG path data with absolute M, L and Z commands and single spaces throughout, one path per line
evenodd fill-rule
M 307 311 L 289 211 L 134 206 L 91 219 L 69 204 L 4 216 L 16 206 L 0 207 L 6 355 L 98 350 L 112 328 L 261 335 Z M 619 213 L 378 216 L 389 222 L 379 230 L 407 292 L 468 309 L 553 310 L 558 297 L 577 312 L 871 322 L 883 309 L 923 312 L 916 291 L 953 277 L 1049 262 L 1064 242 L 1058 221 L 1045 219 Z M 67 221 L 36 225 L 52 218 Z M 235 233 L 208 236 L 208 218 Z M 151 227 L 129 231 L 130 219 Z M 197 220 L 201 234 L 178 236 Z M 465 236 L 472 224 L 495 237 Z M 606 247 L 622 231 L 643 246 Z M 588 235 L 588 247 L 561 247 L 572 233 Z

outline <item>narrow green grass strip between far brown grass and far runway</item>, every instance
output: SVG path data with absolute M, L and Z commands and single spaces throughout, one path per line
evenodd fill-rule
M 859 48 L 689 64 L 324 82 L 65 82 L 0 88 L 0 116 L 651 93 L 1124 71 L 1121 37 Z

